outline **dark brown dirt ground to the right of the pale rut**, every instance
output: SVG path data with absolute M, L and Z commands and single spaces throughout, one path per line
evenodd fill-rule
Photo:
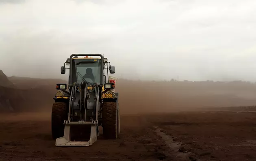
M 256 160 L 255 120 L 256 112 L 221 111 L 159 114 L 148 119 L 168 136 L 165 140 L 172 150 L 204 161 Z

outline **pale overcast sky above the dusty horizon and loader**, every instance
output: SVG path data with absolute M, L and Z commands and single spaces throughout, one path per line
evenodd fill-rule
M 123 78 L 256 81 L 255 0 L 0 0 L 0 69 L 62 77 L 101 53 Z

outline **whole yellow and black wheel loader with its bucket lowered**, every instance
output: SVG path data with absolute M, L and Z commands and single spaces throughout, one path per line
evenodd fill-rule
M 68 85 L 56 85 L 58 91 L 52 106 L 55 146 L 90 146 L 100 136 L 100 126 L 104 138 L 117 139 L 118 93 L 113 92 L 115 84 L 108 77 L 108 71 L 115 73 L 115 66 L 101 54 L 72 54 L 61 66 L 61 74 L 66 69 L 69 69 Z

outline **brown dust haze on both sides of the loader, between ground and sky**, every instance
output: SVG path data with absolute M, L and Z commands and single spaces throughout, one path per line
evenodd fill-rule
M 61 79 L 4 77 L 9 86 L 0 86 L 0 110 L 5 112 L 43 112 L 50 114 L 57 83 Z M 6 79 L 2 79 L 6 80 Z M 11 84 L 12 83 L 12 84 Z M 196 110 L 208 107 L 254 106 L 253 83 L 139 81 L 118 79 L 121 114 L 150 114 Z

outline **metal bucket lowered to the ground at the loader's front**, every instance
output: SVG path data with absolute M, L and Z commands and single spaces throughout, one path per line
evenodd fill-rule
M 97 141 L 98 125 L 93 122 L 65 123 L 64 136 L 57 138 L 55 146 L 90 146 Z

